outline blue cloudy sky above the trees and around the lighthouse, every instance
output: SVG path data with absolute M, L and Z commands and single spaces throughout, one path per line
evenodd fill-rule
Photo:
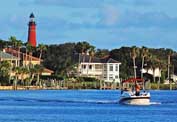
M 37 43 L 87 41 L 101 49 L 122 46 L 177 51 L 177 0 L 3 0 L 0 38 L 26 42 L 31 12 Z

